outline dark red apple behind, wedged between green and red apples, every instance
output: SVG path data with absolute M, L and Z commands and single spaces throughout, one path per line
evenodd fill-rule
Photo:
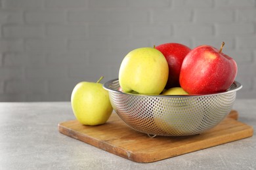
M 165 56 L 169 66 L 169 78 L 165 88 L 179 87 L 182 61 L 191 49 L 188 46 L 174 42 L 160 44 L 156 46 L 156 49 L 160 50 Z

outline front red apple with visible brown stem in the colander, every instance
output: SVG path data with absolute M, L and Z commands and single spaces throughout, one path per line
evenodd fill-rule
M 238 68 L 236 61 L 221 49 L 202 45 L 191 50 L 181 66 L 180 84 L 189 94 L 224 92 L 234 82 Z

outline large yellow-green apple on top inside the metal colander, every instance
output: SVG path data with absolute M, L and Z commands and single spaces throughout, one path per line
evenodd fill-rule
M 156 48 L 137 48 L 129 52 L 119 69 L 119 84 L 123 92 L 158 95 L 168 80 L 169 67 Z

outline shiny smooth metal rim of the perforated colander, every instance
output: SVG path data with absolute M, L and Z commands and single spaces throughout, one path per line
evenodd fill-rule
M 110 85 L 113 84 L 114 82 L 119 83 L 119 78 L 114 78 L 112 80 L 108 80 L 103 84 L 103 88 L 105 90 L 108 90 L 109 92 L 115 92 L 115 93 L 121 93 L 125 95 L 135 95 L 135 96 L 141 96 L 141 97 L 202 97 L 202 96 L 208 96 L 208 95 L 223 95 L 226 93 L 232 93 L 240 90 L 242 88 L 242 84 L 236 80 L 232 83 L 232 85 L 235 85 L 234 88 L 231 89 L 232 85 L 228 90 L 224 92 L 218 92 L 218 93 L 209 93 L 209 94 L 195 94 L 195 95 L 146 95 L 146 94 L 139 94 L 139 93 L 124 93 L 119 90 L 115 90 L 113 88 L 110 88 Z

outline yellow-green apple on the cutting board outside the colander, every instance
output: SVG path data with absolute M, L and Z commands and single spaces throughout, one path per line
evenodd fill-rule
M 71 95 L 75 118 L 84 125 L 96 126 L 106 123 L 112 113 L 108 91 L 104 90 L 100 80 L 79 82 Z

